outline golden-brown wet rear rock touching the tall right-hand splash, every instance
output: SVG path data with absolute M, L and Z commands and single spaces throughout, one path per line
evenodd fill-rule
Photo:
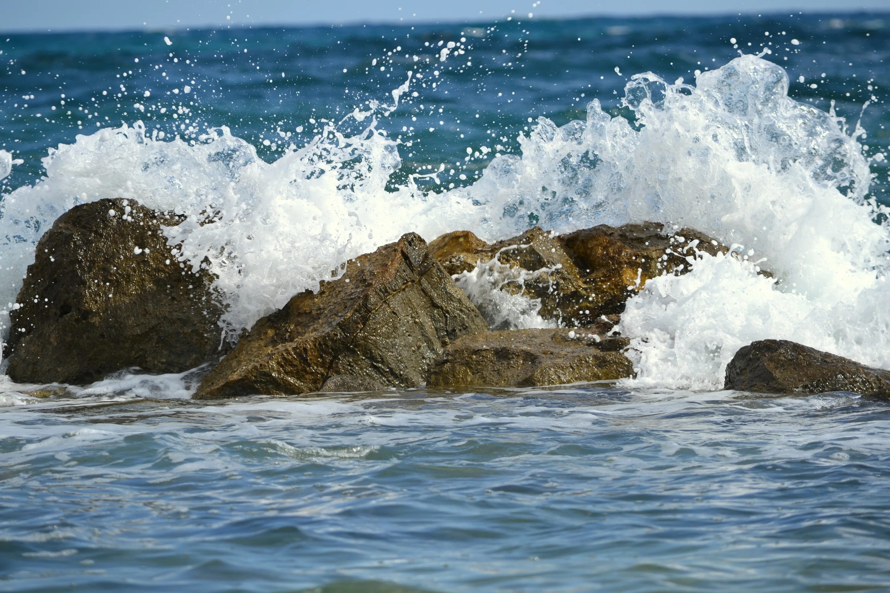
M 656 222 L 599 225 L 559 236 L 576 267 L 591 286 L 596 316 L 619 314 L 627 299 L 643 290 L 650 278 L 685 274 L 692 268 L 695 252 L 728 252 L 722 244 L 691 228 L 668 236 Z

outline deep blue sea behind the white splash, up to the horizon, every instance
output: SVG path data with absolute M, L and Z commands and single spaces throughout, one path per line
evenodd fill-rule
M 456 172 L 446 171 L 443 181 L 466 184 L 478 177 L 493 152 L 465 163 L 465 146 L 501 144 L 505 152 L 515 151 L 515 138 L 528 130 L 529 117 L 548 116 L 560 125 L 584 119 L 593 98 L 611 113 L 629 116 L 628 109 L 619 109 L 619 100 L 630 75 L 652 71 L 667 81 L 682 76 L 692 83 L 696 69 L 717 68 L 739 50 L 756 53 L 762 46 L 775 50 L 768 58 L 788 69 L 790 94 L 797 100 L 824 110 L 835 100 L 838 114 L 854 121 L 862 104 L 877 93 L 878 102 L 862 119 L 871 132 L 866 151 L 871 155 L 890 144 L 890 130 L 882 127 L 890 125 L 882 94 L 890 68 L 888 29 L 885 13 L 9 34 L 0 37 L 0 63 L 6 66 L 0 68 L 0 148 L 20 151 L 16 156 L 25 163 L 4 184 L 16 188 L 33 182 L 42 173 L 40 159 L 47 148 L 73 142 L 77 133 L 93 133 L 97 123 L 119 126 L 137 118 L 167 134 L 182 134 L 177 128 L 186 118 L 198 132 L 226 125 L 271 161 L 290 142 L 300 146 L 312 138 L 318 126 L 310 119 L 340 120 L 362 101 L 386 100 L 409 68 L 438 82 L 435 89 L 432 83 L 414 84 L 418 96 L 406 98 L 406 108 L 381 126 L 392 134 L 403 126 L 415 128 L 405 135 L 414 140 L 412 149 L 401 150 L 402 177 L 425 165 L 454 161 Z M 165 36 L 172 45 L 166 45 Z M 458 43 L 462 37 L 473 66 L 441 65 L 438 43 Z M 802 43 L 791 44 L 792 39 Z M 401 50 L 395 52 L 397 47 Z M 440 76 L 433 75 L 436 71 Z M 798 76 L 805 83 L 797 82 Z M 192 88 L 187 99 L 185 93 L 172 93 L 185 84 Z M 149 99 L 142 96 L 146 90 L 152 93 Z M 59 104 L 62 93 L 65 106 Z M 31 94 L 34 99 L 23 99 Z M 137 113 L 137 102 L 156 103 L 166 113 Z M 193 110 L 192 116 L 177 114 L 174 121 L 174 106 L 181 103 Z M 279 129 L 293 137 L 282 142 Z M 277 140 L 278 151 L 263 146 L 263 140 Z M 886 163 L 876 169 L 874 191 L 881 196 Z M 467 180 L 459 179 L 461 172 Z

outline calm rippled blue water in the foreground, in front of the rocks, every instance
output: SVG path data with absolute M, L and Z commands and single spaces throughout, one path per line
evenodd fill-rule
M 4 590 L 890 582 L 890 408 L 850 394 L 117 394 L 0 422 Z

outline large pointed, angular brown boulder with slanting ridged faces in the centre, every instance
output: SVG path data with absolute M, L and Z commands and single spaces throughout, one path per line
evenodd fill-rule
M 194 397 L 417 387 L 446 344 L 485 328 L 424 240 L 409 233 L 256 322 Z

